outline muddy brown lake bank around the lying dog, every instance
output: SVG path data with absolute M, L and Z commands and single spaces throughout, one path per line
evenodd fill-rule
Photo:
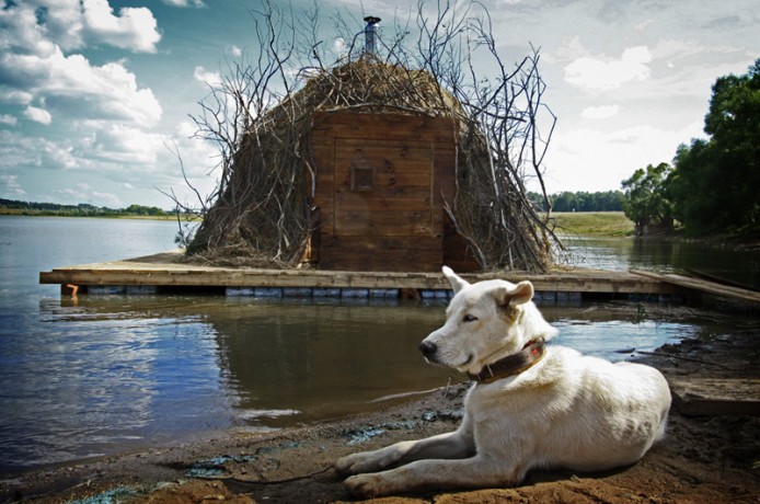
M 757 319 L 756 319 L 757 322 Z M 668 378 L 760 378 L 758 324 L 638 354 Z M 356 450 L 456 428 L 467 386 L 337 422 L 156 447 L 0 481 L 0 502 L 349 502 L 332 462 Z M 382 503 L 757 503 L 760 419 L 687 416 L 638 463 L 595 474 L 533 471 L 519 488 L 426 493 Z

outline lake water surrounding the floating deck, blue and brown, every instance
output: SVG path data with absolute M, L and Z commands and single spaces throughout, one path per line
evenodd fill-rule
M 38 284 L 38 273 L 56 266 L 173 249 L 175 233 L 169 221 L 0 216 L 0 473 L 308 424 L 462 379 L 417 351 L 442 323 L 442 305 L 183 295 L 73 301 Z M 614 268 L 627 261 L 599 256 Z M 630 307 L 542 310 L 560 327 L 560 343 L 612 359 L 715 330 L 710 320 Z

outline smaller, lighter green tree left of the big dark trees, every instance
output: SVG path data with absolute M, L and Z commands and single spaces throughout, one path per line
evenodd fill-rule
M 622 182 L 623 211 L 633 220 L 636 234 L 646 234 L 652 226 L 660 230 L 672 230 L 672 204 L 665 181 L 672 168 L 668 163 L 640 168 Z

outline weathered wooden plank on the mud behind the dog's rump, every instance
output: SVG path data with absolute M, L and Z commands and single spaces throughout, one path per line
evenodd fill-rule
M 684 415 L 760 416 L 760 378 L 668 378 Z

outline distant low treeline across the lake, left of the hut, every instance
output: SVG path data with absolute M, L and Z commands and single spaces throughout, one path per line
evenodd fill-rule
M 154 206 L 129 205 L 126 208 L 107 208 L 102 206 L 80 203 L 79 205 L 59 205 L 57 203 L 18 202 L 0 198 L 0 214 L 15 215 L 42 215 L 67 217 L 119 217 L 119 216 L 169 216 L 165 211 Z

